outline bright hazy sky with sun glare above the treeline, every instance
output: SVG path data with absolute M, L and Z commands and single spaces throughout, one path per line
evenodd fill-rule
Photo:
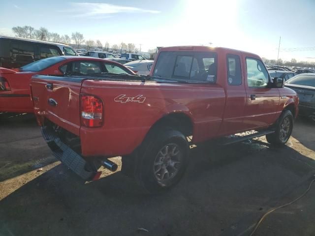
M 227 47 L 315 62 L 315 0 L 0 0 L 0 34 L 12 27 L 83 33 L 103 44 Z

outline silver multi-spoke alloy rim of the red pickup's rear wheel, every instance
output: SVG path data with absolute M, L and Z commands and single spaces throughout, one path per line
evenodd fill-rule
M 183 161 L 183 151 L 177 144 L 167 144 L 158 151 L 154 161 L 154 176 L 166 184 L 179 172 Z

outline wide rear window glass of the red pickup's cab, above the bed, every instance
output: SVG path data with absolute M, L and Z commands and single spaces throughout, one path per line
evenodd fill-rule
M 203 52 L 161 52 L 153 76 L 216 82 L 217 55 Z

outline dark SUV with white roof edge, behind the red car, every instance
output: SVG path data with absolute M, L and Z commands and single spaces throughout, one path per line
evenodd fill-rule
M 0 36 L 0 67 L 19 68 L 39 59 L 62 55 L 78 56 L 65 44 Z

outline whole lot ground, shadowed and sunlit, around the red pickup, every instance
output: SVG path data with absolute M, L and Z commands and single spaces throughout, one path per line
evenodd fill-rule
M 0 114 L 0 236 L 248 236 L 315 178 L 315 123 L 298 119 L 284 148 L 264 138 L 203 144 L 190 159 L 184 179 L 159 195 L 119 170 L 83 182 L 52 156 L 32 115 Z M 255 235 L 315 235 L 314 196 L 315 183 Z

